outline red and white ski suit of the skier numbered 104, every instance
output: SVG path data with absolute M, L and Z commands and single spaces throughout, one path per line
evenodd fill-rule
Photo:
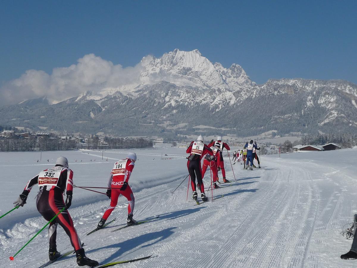
M 125 163 L 126 161 L 126 163 Z M 121 164 L 121 165 L 120 165 Z M 128 214 L 133 214 L 135 198 L 134 194 L 129 185 L 127 185 L 125 190 L 120 190 L 124 182 L 128 182 L 131 172 L 134 169 L 134 162 L 131 159 L 126 158 L 120 160 L 114 164 L 114 167 L 110 173 L 108 180 L 108 188 L 111 188 L 110 205 L 103 215 L 103 219 L 108 219 L 109 215 L 115 209 L 119 195 L 124 195 L 129 201 Z

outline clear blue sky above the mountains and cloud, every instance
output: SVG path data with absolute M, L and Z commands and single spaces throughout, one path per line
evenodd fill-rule
M 0 85 L 94 53 L 134 66 L 178 48 L 250 78 L 357 83 L 357 1 L 1 1 Z

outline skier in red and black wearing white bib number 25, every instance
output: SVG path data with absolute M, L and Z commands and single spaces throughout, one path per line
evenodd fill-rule
M 190 154 L 187 159 L 187 169 L 191 177 L 191 188 L 192 188 L 192 198 L 197 200 L 197 191 L 196 191 L 196 177 L 197 183 L 200 186 L 201 198 L 202 201 L 207 201 L 208 198 L 205 194 L 205 186 L 202 182 L 202 168 L 201 168 L 201 159 L 203 155 L 210 154 L 213 155 L 212 150 L 204 144 L 203 137 L 200 135 L 197 137 L 196 141 L 192 141 L 188 146 L 186 153 Z

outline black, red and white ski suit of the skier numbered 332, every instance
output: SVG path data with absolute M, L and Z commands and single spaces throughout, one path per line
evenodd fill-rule
M 61 165 L 56 165 L 55 167 L 61 167 Z M 24 192 L 22 194 L 28 195 L 32 187 L 39 183 L 39 175 L 32 178 L 27 182 Z M 41 186 L 40 192 L 37 194 L 36 207 L 40 214 L 47 220 L 50 221 L 57 213 L 60 212 L 65 206 L 63 200 L 64 191 L 66 195 L 72 195 L 73 191 L 73 171 L 69 168 L 63 167 L 61 174 L 57 183 L 57 186 Z M 48 228 L 48 237 L 50 240 L 50 248 L 56 248 L 56 235 L 57 235 L 57 224 L 65 230 L 67 235 L 71 240 L 72 247 L 75 250 L 82 248 L 81 240 L 77 235 L 76 229 L 72 218 L 67 210 L 63 210 L 51 223 Z

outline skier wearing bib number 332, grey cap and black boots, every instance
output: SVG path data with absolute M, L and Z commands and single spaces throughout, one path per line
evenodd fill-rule
M 77 264 L 79 266 L 99 265 L 98 262 L 87 258 L 84 254 L 81 240 L 77 235 L 72 218 L 67 210 L 71 206 L 73 192 L 73 171 L 68 168 L 67 158 L 59 157 L 54 167 L 41 171 L 36 177 L 29 180 L 24 191 L 20 194 L 20 197 L 14 202 L 15 207 L 23 207 L 24 204 L 26 204 L 27 196 L 35 184 L 38 184 L 40 187 L 40 192 L 37 194 L 36 207 L 47 221 L 50 221 L 62 208 L 65 208 L 50 223 L 48 228 L 48 237 L 50 240 L 50 248 L 48 251 L 49 259 L 54 260 L 61 255 L 56 247 L 57 224 L 59 224 L 71 240 L 72 247 L 77 256 Z M 66 202 L 63 200 L 65 190 L 67 196 Z

